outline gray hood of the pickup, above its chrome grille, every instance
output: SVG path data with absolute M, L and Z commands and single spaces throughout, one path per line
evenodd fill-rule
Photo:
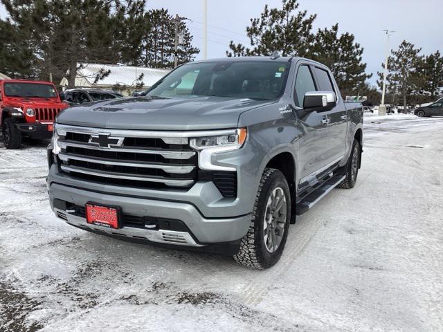
M 226 97 L 123 98 L 70 107 L 57 116 L 57 123 L 109 129 L 227 129 L 237 127 L 242 112 L 271 103 L 275 101 Z

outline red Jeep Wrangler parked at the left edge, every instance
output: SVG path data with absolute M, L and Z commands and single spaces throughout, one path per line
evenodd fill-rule
M 0 121 L 7 149 L 19 149 L 21 137 L 51 138 L 57 114 L 66 109 L 51 82 L 0 80 Z

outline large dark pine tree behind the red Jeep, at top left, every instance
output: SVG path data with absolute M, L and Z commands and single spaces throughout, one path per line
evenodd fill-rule
M 51 74 L 60 82 L 69 70 L 69 87 L 73 87 L 78 63 L 117 64 L 138 57 L 141 35 L 134 31 L 144 0 L 1 1 L 11 23 L 26 36 L 23 40 L 35 56 L 39 78 L 48 80 Z

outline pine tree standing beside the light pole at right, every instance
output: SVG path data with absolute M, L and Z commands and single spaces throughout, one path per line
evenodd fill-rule
M 387 91 L 394 95 L 399 95 L 403 100 L 403 106 L 407 107 L 408 96 L 419 94 L 425 84 L 423 63 L 424 57 L 419 55 L 422 48 L 415 48 L 413 44 L 404 40 L 399 45 L 398 50 L 391 50 L 388 57 L 388 83 Z M 381 64 L 384 68 L 384 64 Z M 383 84 L 383 72 L 379 72 L 377 83 L 381 88 Z

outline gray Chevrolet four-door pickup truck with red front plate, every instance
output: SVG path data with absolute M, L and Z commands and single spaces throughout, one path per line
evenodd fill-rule
M 362 121 L 318 62 L 190 62 L 143 96 L 57 116 L 51 208 L 83 230 L 268 268 L 296 215 L 354 187 Z

